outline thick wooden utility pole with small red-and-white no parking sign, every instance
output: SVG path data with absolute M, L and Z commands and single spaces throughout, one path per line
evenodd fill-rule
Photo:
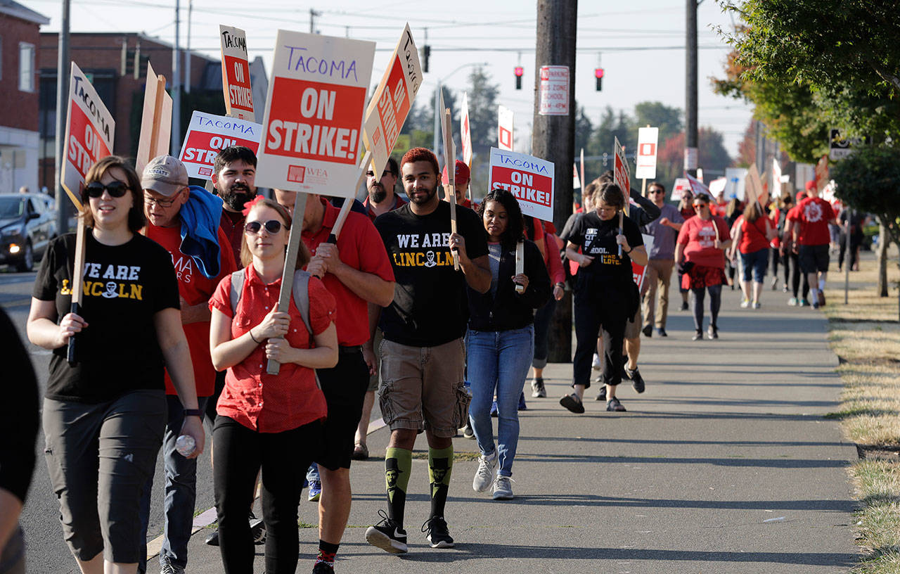
M 535 50 L 535 119 L 531 133 L 532 153 L 554 163 L 554 224 L 556 229 L 572 215 L 572 166 L 575 161 L 575 40 L 578 30 L 578 0 L 537 0 Z M 541 113 L 541 67 L 569 68 L 569 113 Z M 612 142 L 609 142 L 610 145 Z M 572 291 L 566 291 L 556 306 L 551 326 L 551 363 L 572 360 Z

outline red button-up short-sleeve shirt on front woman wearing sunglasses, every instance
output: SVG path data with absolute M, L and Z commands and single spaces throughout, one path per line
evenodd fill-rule
M 278 306 L 281 279 L 263 283 L 252 264 L 246 269 L 238 309 L 233 316 L 230 275 L 222 279 L 210 300 L 210 309 L 219 309 L 231 318 L 232 338 L 247 333 Z M 334 320 L 337 306 L 325 285 L 315 277 L 310 278 L 309 296 L 310 325 L 313 334 L 319 335 Z M 288 314 L 291 316 L 285 336 L 288 344 L 294 348 L 310 348 L 311 336 L 303 326 L 293 297 Z M 266 345 L 260 344 L 246 359 L 229 367 L 216 412 L 260 433 L 281 433 L 325 417 L 328 408 L 312 369 L 284 363 L 278 374 L 270 375 L 266 373 Z

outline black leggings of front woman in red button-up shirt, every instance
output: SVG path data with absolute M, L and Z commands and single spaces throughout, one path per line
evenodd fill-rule
M 252 574 L 255 554 L 247 508 L 253 503 L 257 472 L 263 471 L 266 572 L 293 574 L 300 549 L 297 505 L 303 476 L 321 439 L 319 421 L 283 433 L 259 433 L 219 416 L 213 431 L 216 513 L 226 574 Z

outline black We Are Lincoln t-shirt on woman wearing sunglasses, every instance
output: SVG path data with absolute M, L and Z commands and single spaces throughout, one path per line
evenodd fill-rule
M 74 366 L 65 345 L 53 350 L 47 397 L 96 403 L 130 390 L 165 389 L 153 317 L 180 308 L 172 256 L 138 234 L 120 246 L 99 243 L 90 229 L 85 238 L 81 316 L 87 327 L 76 335 Z M 35 299 L 56 302 L 57 322 L 71 307 L 74 260 L 75 235 L 54 239 L 34 281 Z

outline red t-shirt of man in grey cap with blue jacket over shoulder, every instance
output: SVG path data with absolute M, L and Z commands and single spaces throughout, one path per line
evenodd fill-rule
M 187 301 L 188 305 L 199 305 L 210 300 L 216 286 L 226 275 L 236 271 L 234 256 L 225 232 L 219 228 L 219 274 L 212 279 L 203 276 L 190 256 L 181 252 L 181 226 L 171 228 L 158 228 L 148 224 L 147 237 L 166 248 L 172 256 L 172 264 L 175 265 L 175 277 L 178 279 L 178 294 Z M 197 387 L 198 397 L 210 397 L 215 388 L 216 370 L 212 368 L 210 356 L 210 322 L 198 321 L 182 325 L 184 336 L 187 338 L 187 347 L 191 351 L 191 363 L 193 364 L 193 382 Z M 166 370 L 166 394 L 174 395 L 175 387 Z

